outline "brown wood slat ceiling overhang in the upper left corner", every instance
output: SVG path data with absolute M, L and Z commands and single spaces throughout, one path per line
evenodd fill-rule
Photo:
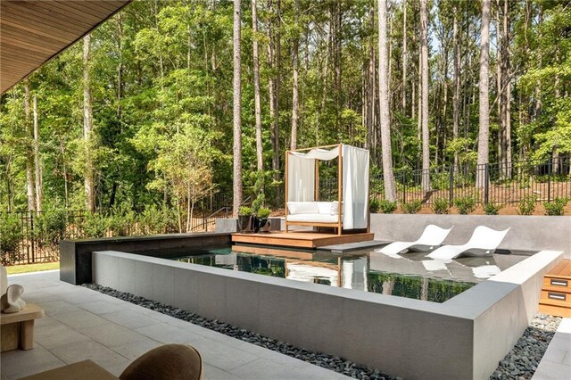
M 0 0 L 0 94 L 131 0 Z

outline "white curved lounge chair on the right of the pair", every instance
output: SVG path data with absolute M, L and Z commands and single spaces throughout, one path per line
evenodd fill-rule
M 478 226 L 474 230 L 474 234 L 470 237 L 467 244 L 461 245 L 443 245 L 435 249 L 428 255 L 432 259 L 451 260 L 463 256 L 491 256 L 495 252 L 498 245 L 506 234 L 509 228 L 503 231 L 496 231 L 495 229 Z

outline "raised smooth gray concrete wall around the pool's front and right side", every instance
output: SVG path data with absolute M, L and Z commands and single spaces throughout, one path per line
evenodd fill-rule
M 485 379 L 537 313 L 542 251 L 443 303 L 93 252 L 93 282 L 407 379 Z

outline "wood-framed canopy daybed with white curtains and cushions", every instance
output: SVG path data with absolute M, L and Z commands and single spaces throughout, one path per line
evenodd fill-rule
M 338 159 L 337 199 L 319 202 L 319 161 Z M 340 180 L 341 178 L 341 180 Z M 285 232 L 289 226 L 368 230 L 368 150 L 327 145 L 285 152 Z

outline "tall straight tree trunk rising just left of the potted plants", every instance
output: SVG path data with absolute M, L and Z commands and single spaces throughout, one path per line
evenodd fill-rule
M 242 76 L 241 76 L 241 0 L 234 1 L 234 207 L 237 217 L 242 204 Z

